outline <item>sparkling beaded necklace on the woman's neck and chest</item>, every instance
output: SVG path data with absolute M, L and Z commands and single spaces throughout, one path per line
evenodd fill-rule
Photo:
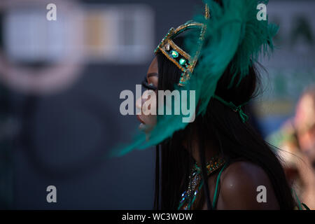
M 208 176 L 215 172 L 217 169 L 222 167 L 224 165 L 225 161 L 222 158 L 219 158 L 218 156 L 213 157 L 207 162 L 206 168 L 207 168 L 207 174 Z M 201 169 L 198 167 L 197 162 L 195 162 L 195 165 L 191 169 L 190 175 L 188 176 L 189 182 L 188 182 L 188 189 L 181 194 L 181 200 L 179 202 L 179 210 L 189 210 L 193 203 L 195 202 L 197 198 L 197 194 L 200 192 L 203 181 L 202 181 L 202 174 Z

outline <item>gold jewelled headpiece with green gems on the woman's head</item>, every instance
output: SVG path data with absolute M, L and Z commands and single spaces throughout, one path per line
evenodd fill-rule
M 207 4 L 205 6 L 204 18 L 209 19 L 209 7 Z M 162 52 L 167 57 L 167 59 L 176 64 L 176 66 L 178 66 L 179 69 L 183 71 L 181 78 L 179 79 L 180 86 L 184 86 L 186 84 L 195 69 L 197 60 L 200 56 L 200 50 L 202 49 L 202 45 L 204 43 L 206 28 L 207 26 L 205 24 L 193 21 L 188 21 L 185 24 L 179 26 L 177 29 L 172 27 L 169 29 L 169 32 L 165 38 L 162 39 L 161 43 L 158 45 L 158 48 L 156 48 L 154 51 L 155 55 L 158 52 Z M 187 52 L 179 48 L 179 46 L 177 46 L 172 41 L 173 38 L 179 36 L 179 34 L 188 29 L 200 29 L 200 36 L 197 41 L 197 50 L 194 57 L 191 57 Z

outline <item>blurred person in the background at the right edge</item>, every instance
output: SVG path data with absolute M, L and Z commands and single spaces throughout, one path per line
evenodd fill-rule
M 269 140 L 281 149 L 286 176 L 300 200 L 315 209 L 315 85 L 300 97 L 295 116 Z

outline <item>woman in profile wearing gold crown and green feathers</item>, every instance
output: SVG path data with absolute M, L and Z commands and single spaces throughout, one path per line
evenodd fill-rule
M 246 122 L 243 111 L 259 87 L 255 50 L 261 45 L 272 45 L 270 37 L 274 34 L 258 23 L 255 27 L 258 32 L 251 31 L 257 22 L 255 1 L 219 3 L 209 1 L 211 18 L 206 7 L 205 19 L 210 21 L 207 26 L 188 22 L 169 31 L 155 50 L 156 57 L 143 82 L 149 91 L 136 103 L 145 112 L 144 104 L 154 99 L 155 94 L 150 92 L 172 91 L 177 85 L 188 85 L 186 90 L 197 91 L 195 120 L 174 128 L 156 146 L 155 209 L 293 209 L 295 202 L 278 158 Z M 242 11 L 244 8 L 246 12 Z M 242 14 L 237 14 L 237 10 L 247 13 L 248 18 L 241 24 L 226 22 L 240 20 L 236 17 Z M 228 26 L 215 27 L 218 24 Z M 200 36 L 194 42 L 192 35 L 186 34 L 187 29 L 196 30 L 199 25 Z M 266 36 L 262 37 L 264 31 Z M 238 35 L 237 41 L 229 34 Z M 193 48 L 197 48 L 194 57 L 183 51 L 191 41 Z M 248 50 L 251 46 L 253 49 Z M 150 105 L 158 107 L 154 100 Z M 157 127 L 162 116 L 145 114 L 138 118 L 146 140 L 167 136 Z M 165 132 L 174 126 L 171 121 L 169 125 L 164 123 Z M 157 132 L 152 131 L 156 129 Z

